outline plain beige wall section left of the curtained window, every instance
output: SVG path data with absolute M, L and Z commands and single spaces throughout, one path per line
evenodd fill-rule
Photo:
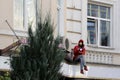
M 13 0 L 0 0 L 0 30 L 9 29 L 5 20 L 13 26 Z

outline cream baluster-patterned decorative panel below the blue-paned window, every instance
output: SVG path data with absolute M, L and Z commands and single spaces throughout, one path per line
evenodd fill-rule
M 86 61 L 102 64 L 113 64 L 112 53 L 87 51 Z

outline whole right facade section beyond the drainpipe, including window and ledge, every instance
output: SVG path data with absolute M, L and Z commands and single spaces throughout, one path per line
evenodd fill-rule
M 71 48 L 83 39 L 87 48 L 88 77 L 120 79 L 119 0 L 65 0 L 64 36 Z M 66 65 L 67 76 L 78 77 L 79 67 Z M 66 67 L 64 66 L 64 67 Z M 67 72 L 68 71 L 68 72 Z M 68 75 L 69 74 L 69 75 Z

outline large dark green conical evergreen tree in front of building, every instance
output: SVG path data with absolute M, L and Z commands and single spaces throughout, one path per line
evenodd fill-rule
M 36 30 L 28 30 L 28 45 L 20 49 L 19 56 L 11 57 L 12 80 L 59 80 L 64 53 L 58 48 L 59 39 L 54 39 L 50 17 L 40 20 Z

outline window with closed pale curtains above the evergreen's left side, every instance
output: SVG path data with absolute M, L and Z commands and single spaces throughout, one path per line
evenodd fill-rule
M 27 29 L 36 26 L 36 0 L 14 0 L 14 27 Z

